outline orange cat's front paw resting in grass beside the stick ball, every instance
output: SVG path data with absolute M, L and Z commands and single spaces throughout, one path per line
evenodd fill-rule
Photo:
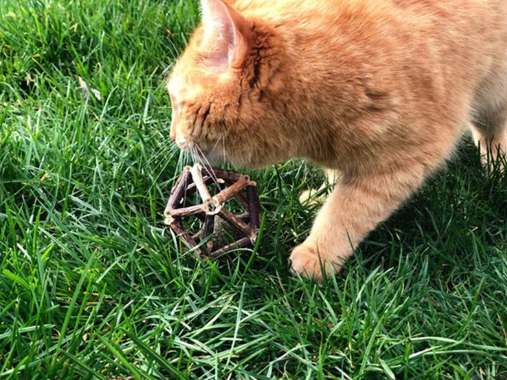
M 327 276 L 330 275 L 331 271 L 337 273 L 341 269 L 340 265 L 330 263 L 322 254 L 319 256 L 316 249 L 304 244 L 298 245 L 292 250 L 289 262 L 291 265 L 290 272 L 294 276 L 301 275 L 307 279 L 313 278 L 315 282 L 322 282 L 323 268 Z

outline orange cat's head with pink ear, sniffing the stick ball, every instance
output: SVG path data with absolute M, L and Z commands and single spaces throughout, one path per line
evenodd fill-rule
M 276 28 L 223 0 L 201 0 L 201 7 L 202 25 L 167 82 L 171 138 L 212 163 L 288 158 L 287 61 Z

